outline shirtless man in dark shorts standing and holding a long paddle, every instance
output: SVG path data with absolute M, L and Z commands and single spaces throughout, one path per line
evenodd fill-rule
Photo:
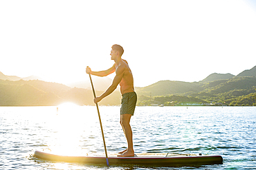
M 108 70 L 100 72 L 92 72 L 90 67 L 86 67 L 86 73 L 95 76 L 107 76 L 113 72 L 116 72 L 115 78 L 113 78 L 112 84 L 101 96 L 94 98 L 94 103 L 100 102 L 102 98 L 111 94 L 118 84 L 120 84 L 120 92 L 122 94 L 122 106 L 120 110 L 120 124 L 127 138 L 128 147 L 125 151 L 119 152 L 119 157 L 134 156 L 134 147 L 132 142 L 132 131 L 130 126 L 131 116 L 134 115 L 134 109 L 137 102 L 137 95 L 134 92 L 134 78 L 127 61 L 121 59 L 124 52 L 122 46 L 113 45 L 111 50 L 111 60 L 115 61 L 114 65 Z

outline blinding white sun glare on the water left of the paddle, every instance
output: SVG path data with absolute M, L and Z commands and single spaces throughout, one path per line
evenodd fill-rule
M 57 106 L 57 114 L 51 118 L 51 138 L 48 152 L 64 156 L 84 156 L 91 145 L 87 136 L 94 131 L 95 118 L 87 111 L 88 107 L 73 103 Z M 88 130 L 89 129 L 89 130 Z

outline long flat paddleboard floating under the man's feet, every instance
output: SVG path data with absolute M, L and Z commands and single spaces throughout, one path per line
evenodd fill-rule
M 109 153 L 108 153 L 109 154 Z M 104 156 L 60 156 L 43 151 L 35 151 L 35 158 L 57 162 L 79 162 L 83 164 L 106 164 Z M 214 155 L 170 154 L 170 153 L 136 153 L 134 157 L 118 157 L 109 154 L 109 165 L 136 164 L 148 166 L 186 166 L 199 164 L 222 164 L 223 158 Z

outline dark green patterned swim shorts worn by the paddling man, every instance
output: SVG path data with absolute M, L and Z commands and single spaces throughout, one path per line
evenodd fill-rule
M 126 94 L 122 94 L 122 106 L 120 110 L 120 114 L 131 114 L 134 116 L 134 110 L 137 103 L 137 94 L 136 92 L 129 92 Z

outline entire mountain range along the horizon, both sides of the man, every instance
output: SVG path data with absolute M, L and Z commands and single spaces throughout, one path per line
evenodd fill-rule
M 147 87 L 136 87 L 138 105 L 179 105 L 179 103 L 226 103 L 226 105 L 256 105 L 256 66 L 237 76 L 210 74 L 203 81 L 158 81 Z M 28 77 L 36 78 L 36 77 Z M 100 96 L 111 79 L 93 76 L 96 95 Z M 68 87 L 60 83 L 39 80 L 25 81 L 0 72 L 0 106 L 59 105 L 72 102 L 94 105 L 90 82 Z M 13 81 L 18 80 L 18 81 Z M 86 89 L 87 87 L 88 89 Z M 120 105 L 120 92 L 113 92 L 100 105 Z

